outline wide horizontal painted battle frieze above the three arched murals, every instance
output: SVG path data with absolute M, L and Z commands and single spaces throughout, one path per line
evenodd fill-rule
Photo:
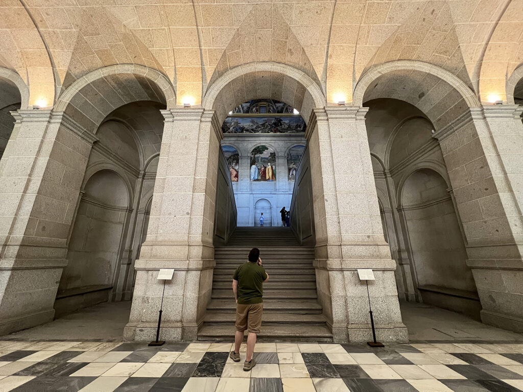
M 223 133 L 303 133 L 305 121 L 300 116 L 228 117 Z

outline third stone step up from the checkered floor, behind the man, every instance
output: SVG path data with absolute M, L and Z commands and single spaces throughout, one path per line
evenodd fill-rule
M 287 314 L 318 314 L 322 313 L 322 306 L 315 299 L 264 299 L 264 312 L 283 312 Z M 236 312 L 236 302 L 229 295 L 227 299 L 211 299 L 209 306 L 210 311 Z

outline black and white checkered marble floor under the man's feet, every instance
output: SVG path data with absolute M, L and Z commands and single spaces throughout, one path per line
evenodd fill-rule
M 510 392 L 523 344 L 259 343 L 243 371 L 231 343 L 0 341 L 0 392 Z

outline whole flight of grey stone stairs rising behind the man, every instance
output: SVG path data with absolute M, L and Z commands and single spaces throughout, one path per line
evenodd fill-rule
M 232 341 L 236 303 L 232 276 L 260 249 L 269 281 L 264 283 L 264 313 L 259 340 L 331 342 L 332 333 L 317 302 L 314 248 L 300 246 L 285 227 L 238 227 L 229 244 L 214 249 L 212 298 L 198 332 L 204 341 Z

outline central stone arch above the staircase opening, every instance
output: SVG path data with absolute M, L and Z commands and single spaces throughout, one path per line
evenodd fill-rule
M 272 93 L 269 91 L 272 94 L 269 98 L 278 99 L 296 108 L 305 122 L 309 121 L 309 115 L 313 108 L 321 108 L 326 105 L 325 96 L 320 86 L 310 76 L 290 65 L 265 61 L 242 64 L 225 72 L 209 85 L 202 100 L 202 107 L 217 111 L 218 122 L 222 123 L 227 113 L 233 108 L 249 99 L 258 98 L 258 95 L 263 95 L 259 94 L 259 91 L 247 91 L 253 75 L 254 78 L 258 79 L 268 76 L 271 83 L 274 82 L 275 85 L 275 91 Z M 282 95 L 284 91 L 287 94 L 291 90 L 290 85 L 289 88 L 283 88 L 286 83 L 290 83 L 289 81 L 294 84 L 294 89 L 298 90 L 299 94 L 294 93 L 292 97 Z M 221 96 L 224 90 L 228 93 L 226 97 Z M 234 91 L 237 91 L 236 95 Z M 304 108 L 305 110 L 303 110 Z

